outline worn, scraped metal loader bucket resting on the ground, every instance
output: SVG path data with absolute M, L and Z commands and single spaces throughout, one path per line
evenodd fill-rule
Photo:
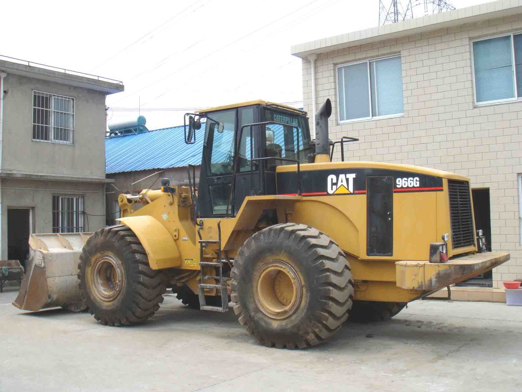
M 13 305 L 33 312 L 57 306 L 85 310 L 77 275 L 81 249 L 91 234 L 32 234 L 26 274 Z

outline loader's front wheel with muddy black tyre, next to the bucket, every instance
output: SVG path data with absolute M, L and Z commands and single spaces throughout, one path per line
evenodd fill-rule
M 79 270 L 81 295 L 103 325 L 140 324 L 163 302 L 167 278 L 149 267 L 145 249 L 125 225 L 105 227 L 90 236 Z

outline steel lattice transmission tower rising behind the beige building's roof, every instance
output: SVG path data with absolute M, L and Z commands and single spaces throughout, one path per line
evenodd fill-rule
M 413 9 L 418 9 L 421 5 L 424 6 L 424 12 L 413 15 Z M 455 7 L 446 0 L 379 0 L 379 26 L 453 9 Z

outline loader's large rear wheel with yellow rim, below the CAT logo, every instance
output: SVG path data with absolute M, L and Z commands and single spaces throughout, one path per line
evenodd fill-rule
M 353 282 L 337 244 L 316 228 L 286 223 L 248 238 L 231 272 L 234 313 L 267 347 L 306 348 L 348 317 Z

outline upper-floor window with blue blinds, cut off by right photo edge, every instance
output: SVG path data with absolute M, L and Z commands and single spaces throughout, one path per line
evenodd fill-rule
M 473 78 L 478 104 L 522 97 L 522 34 L 474 41 Z

